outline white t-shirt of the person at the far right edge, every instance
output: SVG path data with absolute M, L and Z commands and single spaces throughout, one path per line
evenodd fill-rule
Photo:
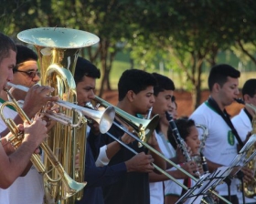
M 237 115 L 236 117 L 233 117 L 231 121 L 234 127 L 236 128 L 236 130 L 238 131 L 240 139 L 244 141 L 246 139 L 248 132 L 251 132 L 252 130 L 250 118 L 246 115 L 244 110 L 241 109 L 240 114 Z M 240 185 L 240 180 L 238 180 L 238 185 Z M 237 196 L 239 198 L 240 203 L 243 203 L 241 191 L 238 192 Z M 245 197 L 245 202 L 246 203 L 256 202 L 256 199 L 250 199 Z

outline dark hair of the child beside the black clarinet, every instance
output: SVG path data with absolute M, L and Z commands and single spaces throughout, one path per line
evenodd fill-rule
M 175 120 L 176 128 L 180 134 L 180 137 L 183 138 L 186 141 L 187 136 L 190 133 L 190 128 L 193 126 L 196 126 L 195 121 L 193 119 L 189 119 L 188 117 L 181 117 L 179 119 Z M 176 149 L 176 139 L 173 136 L 173 131 L 169 127 L 167 131 L 167 138 L 171 145 Z

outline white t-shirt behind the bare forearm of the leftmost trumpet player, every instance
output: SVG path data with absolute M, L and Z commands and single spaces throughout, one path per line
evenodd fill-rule
M 4 108 L 4 114 L 8 118 L 16 117 L 16 111 L 9 107 Z M 0 119 L 0 131 L 5 128 L 4 121 Z M 8 189 L 0 189 L 0 204 L 42 204 L 44 194 L 42 175 L 32 166 L 25 177 L 17 178 Z

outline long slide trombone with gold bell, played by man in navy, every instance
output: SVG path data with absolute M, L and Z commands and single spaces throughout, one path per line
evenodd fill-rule
M 94 97 L 94 100 L 96 102 L 98 102 L 102 107 L 110 107 L 112 106 L 112 104 L 108 103 L 107 101 L 101 99 L 101 97 Z M 128 125 L 130 125 L 132 128 L 134 128 L 134 130 L 138 133 L 140 133 L 140 131 L 142 131 L 142 133 L 139 134 L 139 136 L 141 136 L 142 134 L 145 135 L 145 137 L 142 138 L 146 138 L 148 139 L 152 134 L 153 131 L 155 130 L 155 127 L 158 123 L 158 119 L 159 116 L 156 115 L 155 117 L 153 117 L 151 120 L 150 119 L 140 119 L 137 117 L 133 117 L 132 115 L 126 113 L 125 111 L 123 111 L 122 109 L 120 109 L 119 107 L 114 107 L 115 109 L 115 113 L 118 117 L 120 117 L 123 122 L 127 123 Z M 131 132 L 129 132 L 127 129 L 123 128 L 122 126 L 120 126 L 118 123 L 116 123 L 115 121 L 113 121 L 113 125 L 115 125 L 117 128 L 120 128 L 123 130 L 123 132 L 125 132 L 126 134 L 128 134 L 129 136 L 131 136 L 132 138 L 136 139 L 138 142 L 140 142 L 142 145 L 144 145 L 145 148 L 148 148 L 150 151 L 154 152 L 157 156 L 165 159 L 166 162 L 168 162 L 170 165 L 172 165 L 173 167 L 177 168 L 178 170 L 180 170 L 181 172 L 183 172 L 185 175 L 187 175 L 187 177 L 195 180 L 197 182 L 197 179 L 192 176 L 191 174 L 189 174 L 186 170 L 184 170 L 183 168 L 178 167 L 173 161 L 171 161 L 168 158 L 165 158 L 165 156 L 163 156 L 159 151 L 155 150 L 155 148 L 152 148 L 150 145 L 148 145 L 142 138 L 138 138 L 136 136 L 134 136 Z M 127 146 L 125 143 L 123 143 L 122 141 L 120 141 L 118 138 L 115 138 L 114 136 L 112 136 L 111 133 L 107 132 L 106 133 L 109 137 L 113 138 L 115 141 L 117 141 L 118 143 L 122 144 L 125 148 L 128 148 L 130 151 L 132 151 L 134 154 L 138 154 L 133 148 L 130 148 L 129 146 Z M 147 140 L 146 140 L 147 141 Z M 153 166 L 156 170 L 158 170 L 159 172 L 161 172 L 162 174 L 164 174 L 168 179 L 173 180 L 174 182 L 176 182 L 177 185 L 179 185 L 180 187 L 182 187 L 183 189 L 188 189 L 185 185 L 183 185 L 182 183 L 180 183 L 179 181 L 177 181 L 175 178 L 173 178 L 171 175 L 169 175 L 165 170 L 163 170 L 162 168 L 159 168 L 158 166 L 156 166 L 153 163 Z M 223 201 L 225 201 L 226 203 L 231 204 L 227 199 L 219 196 L 219 194 L 217 194 L 215 191 L 210 190 L 211 193 L 213 193 L 215 196 L 219 197 L 219 199 L 222 199 Z M 207 203 L 205 200 L 203 200 L 203 202 Z

